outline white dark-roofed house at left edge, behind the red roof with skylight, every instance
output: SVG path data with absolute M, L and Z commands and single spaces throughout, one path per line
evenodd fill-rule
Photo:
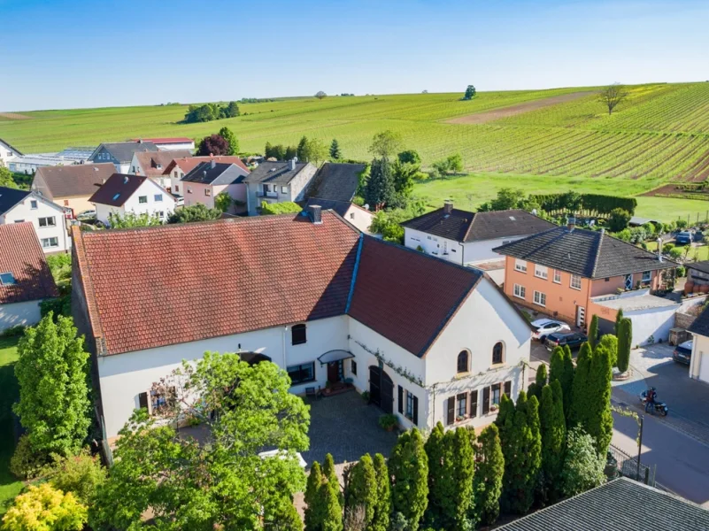
M 64 207 L 36 192 L 0 186 L 0 225 L 32 223 L 46 253 L 66 252 L 72 246 L 66 231 L 65 213 Z

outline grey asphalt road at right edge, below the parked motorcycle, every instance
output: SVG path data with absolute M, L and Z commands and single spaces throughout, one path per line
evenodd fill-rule
M 636 456 L 636 436 L 636 420 L 613 413 L 613 445 Z M 655 481 L 709 508 L 709 445 L 645 415 L 640 462 L 657 466 Z

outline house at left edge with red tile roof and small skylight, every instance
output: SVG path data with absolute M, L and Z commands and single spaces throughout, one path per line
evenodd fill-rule
M 39 304 L 58 296 L 35 227 L 0 225 L 0 250 L 0 332 L 35 325 L 42 319 Z

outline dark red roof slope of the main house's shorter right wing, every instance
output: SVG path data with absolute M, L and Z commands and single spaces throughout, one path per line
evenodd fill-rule
M 348 313 L 422 357 L 481 278 L 469 267 L 366 237 Z

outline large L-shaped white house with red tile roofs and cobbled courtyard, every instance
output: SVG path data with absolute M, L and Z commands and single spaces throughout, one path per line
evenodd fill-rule
M 296 394 L 351 382 L 404 428 L 488 425 L 525 387 L 530 329 L 494 282 L 317 206 L 72 235 L 73 317 L 109 442 L 206 350 L 271 360 Z

